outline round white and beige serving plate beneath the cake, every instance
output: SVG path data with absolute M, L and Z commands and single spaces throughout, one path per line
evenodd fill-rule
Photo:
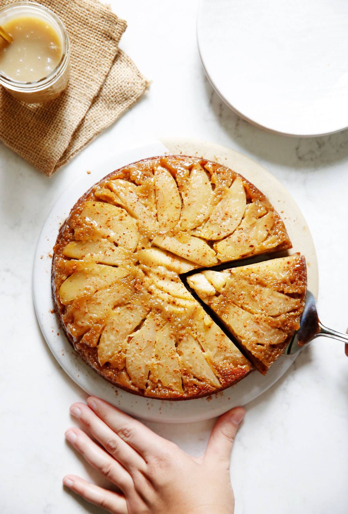
M 184 401 L 143 398 L 118 389 L 101 378 L 72 349 L 62 333 L 57 316 L 50 312 L 53 309 L 50 283 L 51 261 L 41 258 L 41 256 L 52 253 L 59 227 L 78 198 L 102 177 L 130 162 L 145 157 L 162 155 L 168 153 L 168 150 L 170 153 L 181 151 L 183 154 L 190 155 L 204 153 L 208 159 L 221 160 L 227 166 L 233 167 L 235 171 L 242 173 L 246 178 L 252 179 L 256 183 L 255 185 L 262 184 L 263 192 L 268 194 L 270 199 L 277 197 L 278 201 L 282 202 L 281 207 L 284 210 L 284 215 L 289 216 L 289 220 L 291 218 L 287 228 L 294 249 L 304 253 L 307 261 L 310 262 L 309 280 L 315 295 L 317 294 L 317 262 L 313 241 L 300 210 L 283 186 L 259 164 L 238 152 L 210 143 L 190 140 L 166 140 L 165 144 L 166 146 L 160 141 L 155 141 L 137 149 L 114 154 L 107 162 L 98 163 L 90 168 L 90 175 L 83 174 L 82 177 L 72 182 L 52 208 L 39 236 L 33 266 L 33 299 L 41 331 L 52 354 L 70 378 L 84 391 L 88 394 L 97 395 L 134 416 L 153 421 L 178 423 L 209 419 L 226 412 L 234 406 L 245 405 L 276 382 L 289 368 L 294 357 L 281 356 L 265 377 L 258 372 L 253 372 L 244 380 L 223 392 L 207 398 Z M 294 221 L 295 219 L 296 221 Z M 298 230 L 299 226 L 301 226 L 301 231 Z M 300 236 L 297 235 L 300 233 Z

